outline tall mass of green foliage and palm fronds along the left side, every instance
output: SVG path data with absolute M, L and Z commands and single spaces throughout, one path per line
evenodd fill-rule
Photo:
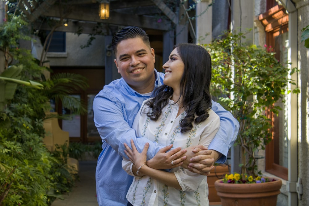
M 67 98 L 74 91 L 87 87 L 85 78 L 75 74 L 58 75 L 46 80 L 43 71 L 31 52 L 18 48 L 19 39 L 29 40 L 27 23 L 18 16 L 0 25 L 0 49 L 5 51 L 5 69 L 12 63 L 22 68 L 19 79 L 37 81 L 43 89 L 19 84 L 13 98 L 2 98 L 0 109 L 0 205 L 46 206 L 68 192 L 74 185 L 76 173 L 67 166 L 67 145 L 61 145 L 50 153 L 44 143 L 43 120 L 50 105 L 49 99 L 64 102 L 67 108 L 74 106 L 77 112 L 85 110 L 76 99 Z M 10 60 L 10 61 L 9 61 Z M 6 81 L 0 79 L 1 94 L 6 94 Z M 15 89 L 15 87 L 14 87 Z M 4 95 L 5 96 L 5 95 Z M 3 97 L 3 96 L 1 96 Z

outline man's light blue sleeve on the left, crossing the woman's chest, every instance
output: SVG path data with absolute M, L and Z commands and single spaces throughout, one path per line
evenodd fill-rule
M 149 142 L 147 159 L 151 159 L 163 148 L 156 142 L 151 142 L 147 138 L 136 137 L 135 130 L 132 129 L 126 119 L 126 111 L 120 101 L 108 93 L 97 95 L 93 101 L 94 122 L 101 139 L 106 141 L 122 157 L 128 158 L 124 152 L 124 143 L 131 147 L 130 140 L 139 152 L 142 152 L 146 142 Z

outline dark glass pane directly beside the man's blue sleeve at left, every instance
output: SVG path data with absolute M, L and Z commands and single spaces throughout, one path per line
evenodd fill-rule
M 93 121 L 93 99 L 96 94 L 88 94 L 87 95 L 87 138 L 88 137 L 100 137 L 97 128 L 95 127 L 95 123 Z

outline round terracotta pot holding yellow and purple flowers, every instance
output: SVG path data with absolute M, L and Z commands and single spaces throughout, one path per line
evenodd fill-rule
M 228 184 L 217 180 L 214 185 L 222 206 L 274 206 L 280 194 L 281 179 L 268 183 Z

